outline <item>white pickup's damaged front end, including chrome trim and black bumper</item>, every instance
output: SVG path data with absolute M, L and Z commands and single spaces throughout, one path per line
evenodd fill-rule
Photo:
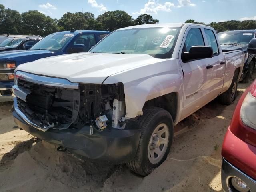
M 17 71 L 13 91 L 14 120 L 30 134 L 89 159 L 120 163 L 135 155 L 140 130 L 126 127 L 122 83 L 78 84 Z

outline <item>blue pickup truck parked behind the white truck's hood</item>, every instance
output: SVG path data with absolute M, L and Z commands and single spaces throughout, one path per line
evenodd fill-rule
M 0 102 L 12 101 L 14 70 L 23 63 L 62 54 L 88 52 L 110 32 L 64 31 L 50 34 L 29 50 L 14 50 L 0 53 Z

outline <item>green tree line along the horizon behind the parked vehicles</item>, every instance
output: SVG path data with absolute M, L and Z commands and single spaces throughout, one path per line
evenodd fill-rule
M 6 9 L 0 4 L 0 34 L 26 34 L 46 36 L 48 34 L 65 31 L 65 30 L 103 30 L 114 31 L 118 28 L 158 23 L 159 20 L 154 19 L 149 14 L 142 14 L 138 18 L 133 19 L 125 11 L 115 10 L 106 11 L 97 18 L 90 12 L 65 13 L 62 18 L 52 19 L 37 10 L 29 10 L 19 13 L 10 8 Z M 196 22 L 195 20 L 186 20 L 187 23 L 205 24 Z M 225 21 L 212 22 L 208 24 L 218 32 L 226 30 L 243 30 L 256 29 L 256 21 Z

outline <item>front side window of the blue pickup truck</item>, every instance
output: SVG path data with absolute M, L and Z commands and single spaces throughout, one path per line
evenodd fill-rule
M 84 46 L 84 52 L 88 52 L 93 45 L 96 45 L 96 39 L 94 34 L 84 34 L 79 36 L 75 41 L 73 45 L 83 45 Z

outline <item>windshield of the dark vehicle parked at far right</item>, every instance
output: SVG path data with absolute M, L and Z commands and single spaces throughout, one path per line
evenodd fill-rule
M 218 34 L 220 44 L 249 44 L 254 32 L 226 32 Z

